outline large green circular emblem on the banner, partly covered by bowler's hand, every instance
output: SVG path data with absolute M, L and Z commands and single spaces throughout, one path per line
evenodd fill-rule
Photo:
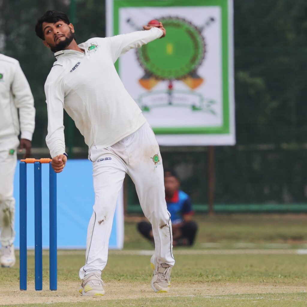
M 206 52 L 204 37 L 189 21 L 179 17 L 158 18 L 167 35 L 137 50 L 145 71 L 157 79 L 180 80 L 195 71 Z

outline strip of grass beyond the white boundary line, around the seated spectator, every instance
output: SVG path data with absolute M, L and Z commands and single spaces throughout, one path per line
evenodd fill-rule
M 136 220 L 125 224 L 125 248 L 150 249 L 136 231 Z M 193 249 L 207 248 L 307 248 L 307 214 L 195 215 L 199 231 Z M 208 244 L 215 243 L 215 244 Z

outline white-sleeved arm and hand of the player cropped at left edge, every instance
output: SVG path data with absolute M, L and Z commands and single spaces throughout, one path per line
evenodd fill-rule
M 21 130 L 19 152 L 23 149 L 26 150 L 25 155 L 23 156 L 25 159 L 31 155 L 31 141 L 35 127 L 35 109 L 34 99 L 29 83 L 18 62 L 16 64 L 11 91 L 14 97 L 14 104 L 19 111 Z

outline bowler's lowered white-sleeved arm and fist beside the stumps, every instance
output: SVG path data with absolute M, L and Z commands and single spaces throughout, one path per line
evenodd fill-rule
M 55 65 L 45 83 L 45 94 L 48 111 L 48 134 L 46 144 L 52 157 L 52 167 L 60 173 L 67 161 L 64 138 L 64 71 L 60 65 Z

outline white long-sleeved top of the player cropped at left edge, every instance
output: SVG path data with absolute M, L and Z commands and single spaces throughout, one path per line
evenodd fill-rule
M 21 138 L 32 141 L 34 126 L 34 100 L 29 83 L 18 61 L 0 54 L 0 140 L 18 136 L 21 131 Z

